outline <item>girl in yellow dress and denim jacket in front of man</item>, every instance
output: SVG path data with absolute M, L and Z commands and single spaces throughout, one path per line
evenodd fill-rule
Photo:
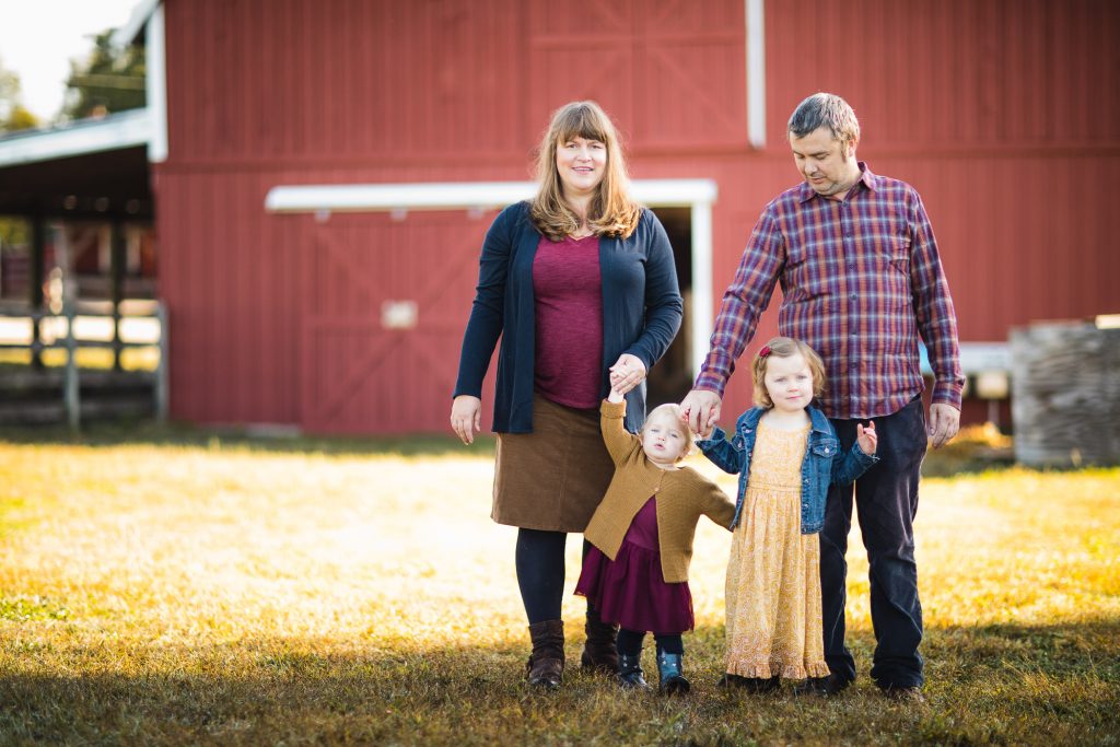
M 725 687 L 768 692 L 778 678 L 819 693 L 828 678 L 821 634 L 820 544 L 829 485 L 853 482 L 877 457 L 875 423 L 857 427 L 848 454 L 828 418 L 810 405 L 824 364 L 809 345 L 775 337 L 754 361 L 755 407 L 730 441 L 719 428 L 700 449 L 739 474 L 727 566 Z

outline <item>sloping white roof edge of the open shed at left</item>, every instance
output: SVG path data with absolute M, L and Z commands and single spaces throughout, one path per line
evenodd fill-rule
M 134 109 L 57 130 L 10 136 L 0 139 L 0 167 L 144 146 L 151 130 L 149 111 Z

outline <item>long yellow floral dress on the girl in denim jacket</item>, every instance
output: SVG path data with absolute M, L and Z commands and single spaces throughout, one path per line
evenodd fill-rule
M 727 566 L 727 671 L 749 678 L 827 676 L 821 547 L 801 533 L 801 464 L 809 427 L 758 423 L 743 513 Z

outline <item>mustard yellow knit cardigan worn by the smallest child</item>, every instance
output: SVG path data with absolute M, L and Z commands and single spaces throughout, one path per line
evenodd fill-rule
M 634 516 L 655 495 L 661 573 L 666 583 L 689 580 L 692 540 L 700 515 L 729 527 L 735 516 L 735 502 L 691 467 L 662 469 L 650 461 L 642 450 L 642 439 L 623 427 L 626 402 L 604 400 L 599 413 L 603 440 L 615 463 L 615 476 L 584 536 L 614 560 Z

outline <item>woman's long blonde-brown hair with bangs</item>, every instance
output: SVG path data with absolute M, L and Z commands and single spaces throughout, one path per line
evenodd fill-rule
M 573 101 L 552 113 L 536 153 L 536 179 L 540 189 L 530 203 L 533 225 L 553 241 L 579 231 L 580 220 L 563 198 L 563 184 L 557 171 L 557 146 L 572 138 L 597 140 L 607 147 L 607 168 L 588 206 L 587 221 L 598 236 L 634 233 L 642 217 L 642 206 L 629 196 L 629 177 L 618 133 L 607 113 L 594 101 Z

